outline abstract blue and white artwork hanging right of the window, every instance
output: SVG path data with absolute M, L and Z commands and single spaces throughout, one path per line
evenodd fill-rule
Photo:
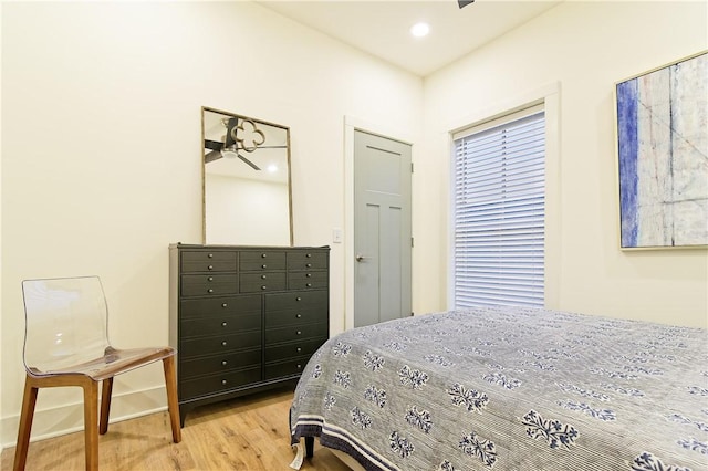
M 616 85 L 621 245 L 708 245 L 708 53 Z

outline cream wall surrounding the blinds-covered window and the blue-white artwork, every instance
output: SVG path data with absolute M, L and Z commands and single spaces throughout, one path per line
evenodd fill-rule
M 418 186 L 416 227 L 446 227 L 454 126 L 485 111 L 560 90 L 560 175 L 549 181 L 554 254 L 552 307 L 689 326 L 708 325 L 706 250 L 623 252 L 614 148 L 614 84 L 708 48 L 707 3 L 565 2 L 425 81 L 425 148 L 416 163 L 429 178 Z M 559 170 L 559 169 L 553 169 Z M 558 233 L 558 237 L 556 237 Z M 446 260 L 447 234 L 425 232 L 417 263 Z M 418 241 L 419 238 L 416 239 Z M 423 242 L 423 241 L 421 241 Z M 441 268 L 445 270 L 445 266 Z M 444 303 L 415 271 L 419 306 Z

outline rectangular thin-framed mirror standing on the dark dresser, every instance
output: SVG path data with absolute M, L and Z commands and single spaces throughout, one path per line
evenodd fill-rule
M 290 128 L 201 108 L 204 243 L 292 245 Z

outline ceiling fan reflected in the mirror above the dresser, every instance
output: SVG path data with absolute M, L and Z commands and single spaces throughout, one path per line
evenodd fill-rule
M 226 127 L 226 134 L 221 136 L 221 140 L 205 139 L 204 161 L 210 161 L 220 158 L 240 158 L 253 170 L 260 170 L 260 167 L 246 158 L 240 151 L 253 153 L 258 149 L 284 149 L 287 146 L 266 146 L 266 134 L 258 128 L 252 119 L 229 117 L 222 118 L 221 124 Z

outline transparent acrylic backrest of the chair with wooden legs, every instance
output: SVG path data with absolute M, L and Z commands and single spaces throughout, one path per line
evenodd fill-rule
M 98 276 L 25 280 L 22 295 L 28 370 L 61 370 L 104 355 L 108 310 Z

